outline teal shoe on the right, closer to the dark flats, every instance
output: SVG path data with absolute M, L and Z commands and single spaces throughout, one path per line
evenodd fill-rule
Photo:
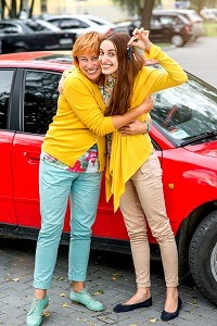
M 73 289 L 69 293 L 69 299 L 74 302 L 79 302 L 87 306 L 87 309 L 92 311 L 103 311 L 104 306 L 100 301 L 93 299 L 86 289 L 82 289 L 80 292 L 75 292 Z

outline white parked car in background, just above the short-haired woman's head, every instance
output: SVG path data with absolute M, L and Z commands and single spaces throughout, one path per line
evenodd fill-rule
M 60 27 L 65 32 L 73 32 L 77 35 L 95 30 L 102 34 L 110 34 L 115 26 L 112 22 L 104 18 L 79 14 L 79 15 L 55 15 L 44 16 L 44 20 Z

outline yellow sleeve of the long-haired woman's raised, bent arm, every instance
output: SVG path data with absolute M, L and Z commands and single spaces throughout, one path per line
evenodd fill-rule
M 164 68 L 163 71 L 151 68 L 151 73 L 149 75 L 149 79 L 152 79 L 152 89 L 150 89 L 151 93 L 169 87 L 179 86 L 188 80 L 187 74 L 178 62 L 162 51 L 159 47 L 152 45 L 150 52 L 145 52 L 145 59 L 157 60 Z M 149 82 L 151 80 L 146 80 L 146 83 Z

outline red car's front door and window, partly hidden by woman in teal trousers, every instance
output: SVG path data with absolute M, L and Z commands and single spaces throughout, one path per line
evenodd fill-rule
M 38 172 L 41 143 L 56 111 L 60 74 L 26 70 L 21 73 L 20 116 L 12 108 L 14 121 L 20 120 L 13 140 L 14 208 L 18 225 L 39 228 Z

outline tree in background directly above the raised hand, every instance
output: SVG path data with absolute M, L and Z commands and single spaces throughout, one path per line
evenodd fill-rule
M 155 0 L 113 0 L 115 4 L 119 4 L 131 14 L 137 14 L 141 20 L 141 26 L 150 29 L 150 20 Z M 161 1 L 157 1 L 161 3 Z

